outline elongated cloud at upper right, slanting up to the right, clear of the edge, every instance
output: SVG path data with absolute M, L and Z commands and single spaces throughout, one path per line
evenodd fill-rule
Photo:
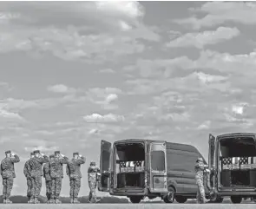
M 218 42 L 224 42 L 240 35 L 237 28 L 219 27 L 215 31 L 204 31 L 201 33 L 187 33 L 171 42 L 167 43 L 167 47 L 196 47 L 203 49 L 206 45 L 213 45 Z

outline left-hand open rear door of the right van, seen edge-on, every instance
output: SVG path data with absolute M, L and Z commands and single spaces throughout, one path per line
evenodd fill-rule
M 216 163 L 216 147 L 217 147 L 217 141 L 216 138 L 209 134 L 209 156 L 208 156 L 208 165 L 210 169 L 210 179 L 208 181 L 207 187 L 212 193 L 216 193 L 217 189 L 217 173 L 218 173 L 218 167 Z

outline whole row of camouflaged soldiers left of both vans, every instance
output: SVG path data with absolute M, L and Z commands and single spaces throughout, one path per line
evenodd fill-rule
M 12 203 L 10 201 L 10 193 L 13 180 L 16 178 L 14 163 L 19 162 L 20 159 L 16 153 L 11 153 L 10 150 L 6 151 L 5 155 L 6 157 L 1 161 L 0 173 L 3 179 L 3 203 L 9 204 Z M 28 203 L 40 203 L 38 197 L 41 193 L 43 177 L 46 184 L 47 203 L 62 203 L 59 197 L 62 190 L 63 164 L 66 164 L 66 173 L 69 176 L 70 203 L 79 203 L 77 198 L 82 179 L 81 165 L 84 163 L 85 157 L 79 153 L 73 153 L 73 158 L 70 160 L 60 151 L 56 151 L 54 154 L 49 155 L 49 157 L 40 153 L 39 150 L 30 153 L 30 159 L 25 162 L 23 168 L 28 186 Z M 89 202 L 92 203 L 96 202 L 95 190 L 99 175 L 99 168 L 95 167 L 95 162 L 91 162 L 88 169 L 88 180 L 90 188 Z

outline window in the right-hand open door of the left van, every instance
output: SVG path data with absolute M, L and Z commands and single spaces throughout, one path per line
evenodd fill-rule
M 165 171 L 165 153 L 163 151 L 151 152 L 151 168 L 154 171 Z

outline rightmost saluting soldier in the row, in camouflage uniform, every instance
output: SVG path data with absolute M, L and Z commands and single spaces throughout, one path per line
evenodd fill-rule
M 70 203 L 80 203 L 78 201 L 78 193 L 81 187 L 81 165 L 85 163 L 85 157 L 79 153 L 73 153 L 73 159 L 67 164 L 67 175 L 70 181 Z

